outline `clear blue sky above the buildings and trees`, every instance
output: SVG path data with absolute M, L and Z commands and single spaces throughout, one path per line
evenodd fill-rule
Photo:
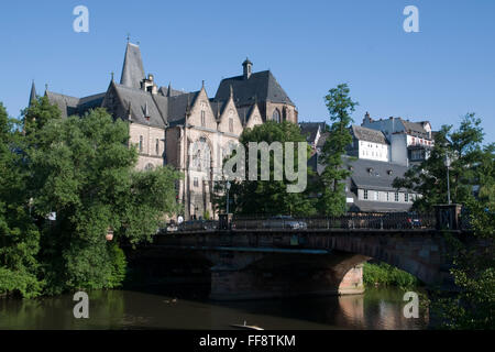
M 76 33 L 76 6 L 89 33 Z M 406 33 L 406 6 L 419 33 Z M 495 142 L 495 1 L 4 1 L 0 10 L 0 101 L 11 116 L 28 103 L 31 80 L 81 97 L 120 79 L 127 34 L 141 43 L 158 85 L 215 96 L 222 77 L 271 69 L 299 109 L 299 121 L 328 121 L 323 96 L 348 82 L 354 120 L 403 117 L 458 124 L 483 119 Z

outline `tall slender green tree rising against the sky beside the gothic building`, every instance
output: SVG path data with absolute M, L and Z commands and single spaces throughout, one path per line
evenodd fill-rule
M 319 188 L 321 196 L 318 200 L 318 211 L 328 216 L 340 216 L 345 212 L 345 189 L 343 182 L 351 175 L 342 167 L 342 155 L 352 143 L 349 128 L 352 123 L 351 113 L 358 102 L 349 96 L 346 84 L 329 90 L 324 97 L 330 114 L 330 134 L 324 142 L 321 153 L 321 164 L 324 169 L 320 175 Z

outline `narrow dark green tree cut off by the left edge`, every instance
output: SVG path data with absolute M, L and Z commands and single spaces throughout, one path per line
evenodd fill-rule
M 22 135 L 0 103 L 0 295 L 40 294 L 40 232 L 30 217 L 28 174 L 20 153 Z

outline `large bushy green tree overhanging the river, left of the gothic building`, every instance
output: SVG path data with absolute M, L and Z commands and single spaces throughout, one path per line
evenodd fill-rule
M 177 210 L 179 174 L 169 167 L 134 170 L 138 151 L 129 145 L 129 125 L 103 109 L 46 120 L 28 151 L 46 293 L 116 287 L 125 267 L 116 242 L 152 239 L 164 215 Z M 52 212 L 55 221 L 46 219 Z

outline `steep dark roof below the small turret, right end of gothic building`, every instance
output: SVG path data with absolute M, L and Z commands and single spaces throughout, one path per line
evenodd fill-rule
M 271 101 L 294 106 L 294 102 L 270 70 L 252 74 L 249 79 L 244 79 L 244 76 L 222 79 L 215 100 L 228 100 L 230 97 L 230 86 L 233 88 L 237 106 L 252 105 L 256 99 L 257 101 Z

